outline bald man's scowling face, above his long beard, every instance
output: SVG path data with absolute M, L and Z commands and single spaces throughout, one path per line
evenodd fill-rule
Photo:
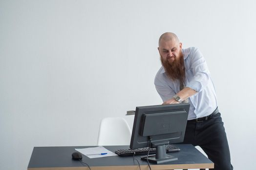
M 181 57 L 182 43 L 177 43 L 175 40 L 161 40 L 158 51 L 163 61 L 168 61 L 172 64 Z

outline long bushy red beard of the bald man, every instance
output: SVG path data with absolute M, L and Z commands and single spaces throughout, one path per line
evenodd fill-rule
M 176 57 L 171 63 L 169 63 L 168 60 L 164 61 L 162 57 L 160 57 L 160 59 L 168 77 L 170 77 L 173 81 L 184 81 L 185 67 L 183 53 L 181 51 L 179 56 Z

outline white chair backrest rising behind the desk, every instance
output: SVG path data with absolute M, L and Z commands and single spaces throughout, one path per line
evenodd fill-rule
M 105 118 L 101 120 L 98 146 L 129 145 L 131 130 L 123 118 Z

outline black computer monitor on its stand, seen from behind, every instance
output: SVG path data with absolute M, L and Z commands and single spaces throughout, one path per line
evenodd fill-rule
M 153 163 L 177 160 L 165 145 L 183 142 L 189 108 L 189 103 L 136 107 L 130 148 L 155 147 L 156 155 L 148 158 Z

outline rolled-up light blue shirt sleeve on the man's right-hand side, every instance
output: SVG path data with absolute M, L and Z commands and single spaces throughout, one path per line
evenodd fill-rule
M 195 48 L 191 53 L 190 60 L 193 77 L 187 87 L 200 92 L 209 83 L 210 72 L 203 54 L 198 49 Z

